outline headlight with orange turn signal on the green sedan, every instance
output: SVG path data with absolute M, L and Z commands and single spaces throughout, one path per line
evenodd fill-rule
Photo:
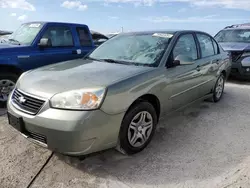
M 50 104 L 54 108 L 70 110 L 94 110 L 100 107 L 106 89 L 79 89 L 54 95 Z

